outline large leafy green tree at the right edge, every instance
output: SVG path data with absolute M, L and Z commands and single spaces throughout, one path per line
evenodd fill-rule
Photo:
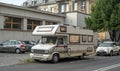
M 108 31 L 112 41 L 120 41 L 120 0 L 96 0 L 86 26 L 94 31 Z

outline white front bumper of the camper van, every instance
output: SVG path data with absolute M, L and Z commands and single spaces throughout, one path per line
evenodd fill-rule
M 30 57 L 32 59 L 37 59 L 37 60 L 40 60 L 40 61 L 50 61 L 52 59 L 52 56 L 50 54 L 30 53 Z

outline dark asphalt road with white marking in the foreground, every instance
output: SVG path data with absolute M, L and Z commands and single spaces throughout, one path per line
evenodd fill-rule
M 120 56 L 94 56 L 84 60 L 62 59 L 50 62 L 28 63 L 0 67 L 0 71 L 120 71 Z

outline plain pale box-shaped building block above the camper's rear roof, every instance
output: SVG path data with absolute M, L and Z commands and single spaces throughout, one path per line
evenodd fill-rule
M 88 14 L 82 14 L 79 12 L 66 13 L 65 24 L 85 28 L 85 18 L 89 17 Z

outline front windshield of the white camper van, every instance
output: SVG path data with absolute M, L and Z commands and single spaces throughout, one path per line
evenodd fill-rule
M 55 44 L 57 37 L 44 36 L 41 39 L 41 44 Z

